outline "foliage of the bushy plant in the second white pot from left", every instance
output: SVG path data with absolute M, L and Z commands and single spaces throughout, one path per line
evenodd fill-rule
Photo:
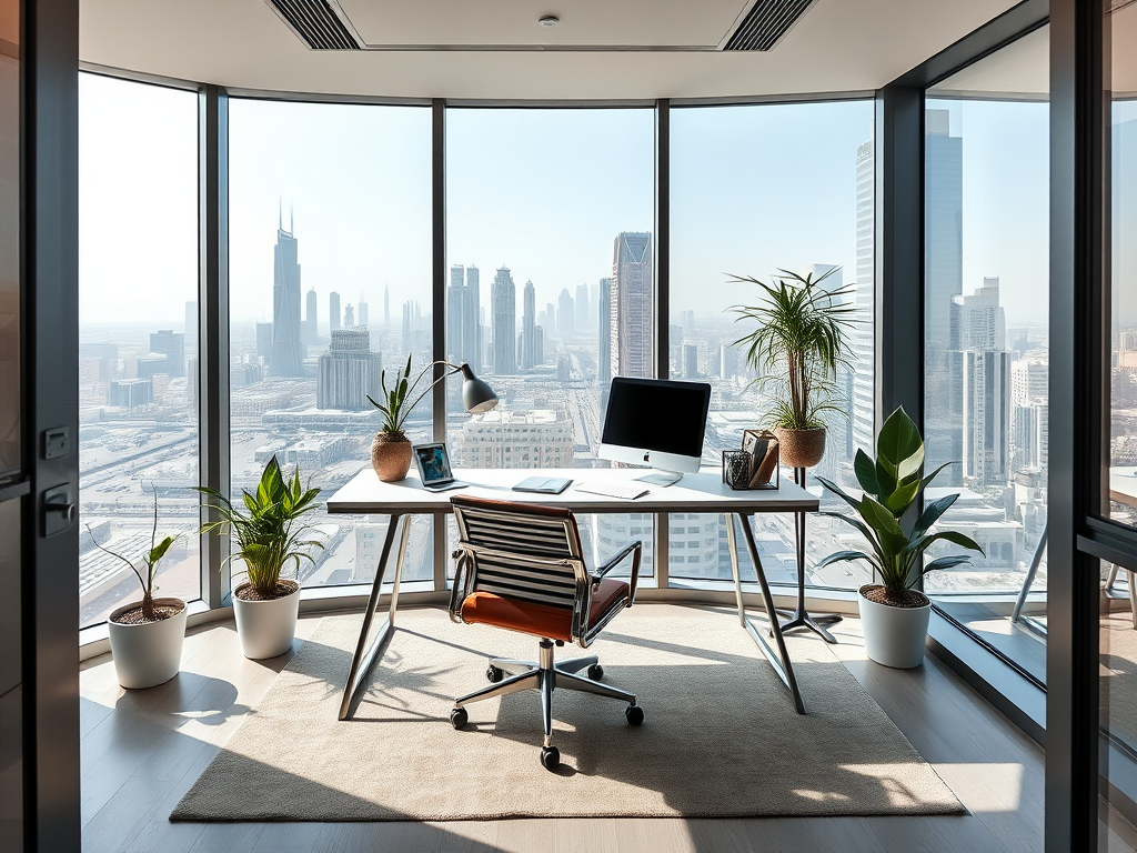
M 313 502 L 319 489 L 300 485 L 299 465 L 288 480 L 273 456 L 265 465 L 256 494 L 242 489 L 241 506 L 231 504 L 216 489 L 197 486 L 194 490 L 213 498 L 215 503 L 205 506 L 221 515 L 221 520 L 202 524 L 201 532 L 232 533 L 236 547 L 225 562 L 234 557 L 243 560 L 249 585 L 262 597 L 275 597 L 281 573 L 289 563 L 294 564 L 299 575 L 301 561 L 315 562 L 305 548 L 324 547 L 318 541 L 300 539 L 312 530 L 304 516 L 318 508 Z

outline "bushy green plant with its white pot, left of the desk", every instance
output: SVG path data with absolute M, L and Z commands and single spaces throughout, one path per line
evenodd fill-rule
M 285 480 L 276 456 L 265 465 L 256 494 L 242 490 L 241 506 L 233 506 L 216 489 L 194 488 L 214 499 L 206 506 L 221 515 L 219 521 L 202 524 L 201 532 L 231 533 L 235 548 L 225 562 L 234 557 L 244 561 L 247 579 L 233 590 L 241 651 L 252 660 L 284 654 L 292 647 L 300 613 L 300 561 L 314 562 L 305 548 L 324 547 L 300 539 L 312 529 L 304 516 L 317 508 L 313 502 L 319 489 L 300 485 L 299 465 L 292 479 Z M 289 563 L 297 580 L 281 578 Z

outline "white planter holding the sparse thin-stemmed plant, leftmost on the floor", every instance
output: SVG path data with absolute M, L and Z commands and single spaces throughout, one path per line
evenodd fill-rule
M 160 622 L 119 624 L 115 618 L 140 606 L 141 602 L 118 607 L 107 620 L 110 654 L 115 659 L 118 684 L 132 690 L 155 687 L 177 674 L 182 666 L 182 640 L 185 638 L 185 602 L 181 598 L 155 598 L 155 605 L 181 607 Z

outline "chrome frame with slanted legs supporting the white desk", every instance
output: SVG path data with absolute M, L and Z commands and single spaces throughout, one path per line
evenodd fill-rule
M 484 472 L 482 472 L 484 473 Z M 557 472 L 551 472 L 557 473 Z M 579 472 L 578 472 L 579 473 Z M 590 471 L 590 479 L 595 477 L 595 471 Z M 702 472 L 700 472 L 702 473 Z M 503 477 L 511 481 L 515 481 L 517 477 L 516 471 L 506 470 Z M 468 478 L 466 478 L 468 479 Z M 489 486 L 489 489 L 499 489 L 498 486 Z M 408 490 L 409 491 L 409 490 Z M 479 489 L 481 491 L 481 489 Z M 764 495 L 770 496 L 770 492 L 764 492 Z M 508 489 L 493 494 L 487 494 L 485 497 L 496 497 L 504 499 L 517 499 L 517 492 L 511 492 Z M 521 496 L 522 500 L 526 503 L 553 503 L 556 502 L 561 506 L 570 506 L 580 513 L 628 513 L 628 512 L 652 512 L 652 513 L 667 513 L 667 512 L 715 512 L 723 513 L 727 515 L 729 523 L 727 529 L 727 541 L 730 549 L 730 562 L 731 571 L 733 573 L 735 580 L 735 596 L 738 604 L 738 619 L 741 627 L 750 635 L 750 638 L 757 645 L 758 649 L 762 652 L 763 656 L 769 661 L 770 665 L 773 668 L 778 678 L 789 690 L 790 696 L 794 699 L 794 707 L 799 714 L 804 714 L 805 702 L 802 698 L 802 690 L 797 684 L 797 677 L 794 673 L 794 664 L 790 661 L 789 652 L 786 648 L 786 639 L 782 633 L 782 626 L 778 619 L 777 611 L 774 610 L 773 595 L 770 591 L 770 583 L 766 580 L 765 570 L 762 568 L 762 560 L 758 556 L 758 548 L 754 539 L 754 530 L 752 527 L 752 516 L 757 513 L 752 506 L 746 508 L 739 507 L 737 504 L 740 503 L 737 499 L 731 500 L 729 497 L 720 496 L 716 502 L 715 495 L 706 495 L 708 500 L 707 505 L 698 505 L 697 510 L 690 508 L 691 504 L 680 504 L 680 503 L 669 503 L 666 498 L 654 502 L 644 502 L 632 504 L 630 502 L 623 502 L 619 499 L 607 499 L 607 498 L 595 498 L 595 496 L 589 496 L 586 499 L 578 502 L 562 502 L 556 500 L 556 496 L 540 496 L 534 498 L 532 495 Z M 383 540 L 383 548 L 380 552 L 379 564 L 375 566 L 375 578 L 372 581 L 371 595 L 367 599 L 367 610 L 364 612 L 363 627 L 359 630 L 359 639 L 356 643 L 355 654 L 351 656 L 351 665 L 348 671 L 347 684 L 343 688 L 343 697 L 340 702 L 339 719 L 347 720 L 350 719 L 358 706 L 359 694 L 362 693 L 364 686 L 371 678 L 371 673 L 375 665 L 382 659 L 383 654 L 387 652 L 387 647 L 390 645 L 392 635 L 395 633 L 395 615 L 398 610 L 399 604 L 399 581 L 402 574 L 402 564 L 406 556 L 407 549 L 407 538 L 410 530 L 410 519 L 415 514 L 430 514 L 435 516 L 445 516 L 449 511 L 449 496 L 446 497 L 426 497 L 421 490 L 415 490 L 407 495 L 408 500 L 400 505 L 398 510 L 389 510 L 383 513 L 382 510 L 372 508 L 366 505 L 354 505 L 351 500 L 346 500 L 343 508 L 338 510 L 338 512 L 351 512 L 351 513 L 368 513 L 368 514 L 388 514 L 390 522 L 387 529 L 387 535 Z M 576 505 L 579 504 L 579 505 Z M 763 511 L 767 512 L 767 511 Z M 782 506 L 770 510 L 769 512 L 799 512 L 795 508 Z M 754 563 L 755 574 L 757 575 L 758 587 L 762 591 L 762 603 L 765 610 L 766 622 L 769 626 L 764 629 L 757 627 L 752 622 L 752 618 L 747 614 L 746 607 L 742 601 L 742 581 L 739 573 L 738 563 L 738 540 L 737 533 L 735 532 L 735 521 L 742 528 L 742 537 L 746 540 L 746 548 L 750 555 L 750 562 Z M 401 525 L 401 532 L 399 527 Z M 382 590 L 383 581 L 387 578 L 388 565 L 391 561 L 391 552 L 395 550 L 395 539 L 399 537 L 398 555 L 395 561 L 395 577 L 393 586 L 391 589 L 391 601 L 389 604 L 387 620 L 379 628 L 375 638 L 368 643 L 368 637 L 372 632 L 372 626 L 375 621 L 376 612 L 379 611 L 380 593 Z M 803 566 L 798 566 L 798 571 L 802 571 Z M 774 647 L 766 641 L 763 633 L 769 631 L 769 635 L 773 638 Z

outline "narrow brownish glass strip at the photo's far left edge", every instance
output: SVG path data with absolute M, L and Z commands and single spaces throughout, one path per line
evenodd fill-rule
M 0 481 L 19 473 L 19 3 L 0 3 Z

